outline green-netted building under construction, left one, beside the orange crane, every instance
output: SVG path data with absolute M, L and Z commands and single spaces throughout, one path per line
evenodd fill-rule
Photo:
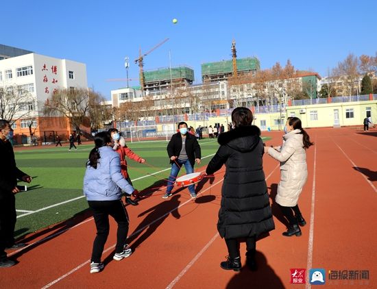
M 154 71 L 144 71 L 144 90 L 154 92 L 167 90 L 173 86 L 188 86 L 193 84 L 194 71 L 189 66 L 159 68 Z

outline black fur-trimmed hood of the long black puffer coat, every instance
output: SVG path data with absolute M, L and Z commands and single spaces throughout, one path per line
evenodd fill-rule
M 228 145 L 242 153 L 252 151 L 260 142 L 260 129 L 256 125 L 236 127 L 220 134 L 217 141 L 220 145 Z

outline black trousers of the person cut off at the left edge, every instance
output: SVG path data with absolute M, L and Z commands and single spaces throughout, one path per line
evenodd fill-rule
M 0 199 L 0 257 L 6 256 L 5 248 L 14 244 L 16 220 L 16 198 L 13 193 L 6 194 Z

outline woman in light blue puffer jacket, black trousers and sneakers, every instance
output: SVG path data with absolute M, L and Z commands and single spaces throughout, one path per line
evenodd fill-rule
M 122 190 L 132 194 L 134 188 L 121 174 L 119 154 L 110 145 L 111 136 L 107 131 L 95 135 L 95 148 L 90 151 L 84 176 L 84 194 L 90 209 L 93 210 L 97 227 L 90 273 L 97 273 L 104 268 L 101 255 L 110 230 L 109 215 L 118 224 L 117 245 L 113 259 L 119 261 L 132 254 L 131 249 L 125 249 L 129 221 L 121 196 Z

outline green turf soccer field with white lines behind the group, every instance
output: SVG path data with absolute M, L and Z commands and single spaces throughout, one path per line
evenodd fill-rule
M 195 166 L 195 171 L 203 171 L 219 147 L 217 139 L 206 138 L 199 140 L 199 144 L 202 163 Z M 165 190 L 166 183 L 163 180 L 170 173 L 167 141 L 134 142 L 127 145 L 147 160 L 146 164 L 127 160 L 134 187 L 145 192 L 153 192 L 158 186 Z M 27 192 L 16 194 L 16 238 L 87 210 L 82 183 L 86 160 L 92 148 L 93 145 L 81 145 L 77 147 L 77 151 L 68 151 L 68 147 L 49 147 L 15 152 L 17 166 L 33 177 Z M 182 169 L 180 175 L 184 174 Z

